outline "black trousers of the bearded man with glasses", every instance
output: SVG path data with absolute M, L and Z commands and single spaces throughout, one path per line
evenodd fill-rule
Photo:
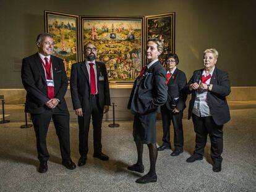
M 90 107 L 83 112 L 83 117 L 79 120 L 79 153 L 81 157 L 87 157 L 88 154 L 88 132 L 90 120 L 92 117 L 93 124 L 93 149 L 94 154 L 101 152 L 101 123 L 103 119 L 103 109 L 99 106 L 98 95 L 90 98 Z

